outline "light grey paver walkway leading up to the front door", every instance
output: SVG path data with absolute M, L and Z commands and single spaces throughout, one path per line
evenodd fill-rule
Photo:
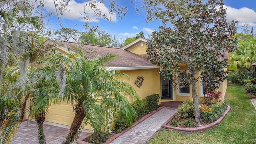
M 161 128 L 176 112 L 176 108 L 164 107 L 143 122 L 137 124 L 110 144 L 143 144 L 151 136 L 156 133 L 156 130 Z

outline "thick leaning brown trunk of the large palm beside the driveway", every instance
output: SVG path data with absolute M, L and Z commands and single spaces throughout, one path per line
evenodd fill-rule
M 85 117 L 84 108 L 82 104 L 76 104 L 76 106 L 74 107 L 74 111 L 76 112 L 76 114 L 70 126 L 70 132 L 68 133 L 66 140 L 62 142 L 62 144 L 71 144 L 72 142 L 77 140 L 78 134 L 80 134 L 78 130 Z

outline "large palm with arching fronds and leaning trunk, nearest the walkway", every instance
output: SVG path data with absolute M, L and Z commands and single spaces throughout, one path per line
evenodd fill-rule
M 82 53 L 81 48 L 74 49 L 76 54 L 70 53 L 69 57 L 64 58 L 67 67 L 64 97 L 73 103 L 75 116 L 63 144 L 70 144 L 76 140 L 86 115 L 90 115 L 89 119 L 94 121 L 94 126 L 100 127 L 104 124 L 106 107 L 122 114 L 131 126 L 132 116 L 136 113 L 129 100 L 139 102 L 139 98 L 129 83 L 117 80 L 122 76 L 127 78 L 127 75 L 104 67 L 104 64 L 115 55 L 108 54 L 90 60 Z

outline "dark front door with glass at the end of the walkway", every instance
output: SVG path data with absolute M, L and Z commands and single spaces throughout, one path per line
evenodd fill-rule
M 172 99 L 172 82 L 161 75 L 161 99 Z

